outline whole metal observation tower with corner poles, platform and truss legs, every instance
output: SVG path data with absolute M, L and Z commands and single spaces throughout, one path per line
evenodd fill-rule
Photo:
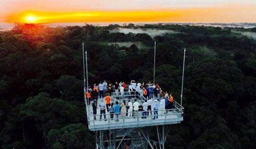
M 85 55 L 84 55 L 85 53 Z M 184 76 L 184 64 L 185 53 L 183 60 L 183 76 Z M 83 44 L 83 58 L 84 58 L 84 92 L 86 92 L 86 82 L 88 88 L 88 75 L 85 76 L 85 68 L 87 69 L 87 52 L 84 52 Z M 86 59 L 86 66 L 85 66 Z M 155 70 L 155 68 L 154 68 Z M 88 74 L 88 73 L 86 73 Z M 155 71 L 154 71 L 155 76 Z M 154 79 L 155 80 L 155 79 Z M 179 124 L 183 121 L 184 108 L 182 107 L 182 94 L 183 94 L 183 77 L 182 77 L 182 91 L 181 91 L 181 103 L 173 100 L 173 108 L 166 110 L 158 110 L 158 119 L 152 119 L 152 114 L 146 115 L 146 119 L 142 118 L 142 111 L 138 111 L 135 115 L 132 112 L 132 117 L 119 115 L 119 121 L 116 122 L 116 117 L 111 119 L 110 113 L 106 110 L 106 119 L 102 116 L 100 120 L 100 109 L 97 108 L 96 115 L 93 114 L 92 105 L 87 104 L 85 97 L 85 105 L 87 112 L 88 128 L 95 132 L 96 137 L 96 149 L 165 149 L 164 143 L 169 133 L 171 124 Z M 154 97 L 155 98 L 155 97 Z M 141 94 L 135 94 L 135 92 L 113 92 L 111 94 L 111 102 L 118 101 L 122 103 L 123 100 L 130 100 L 134 103 L 137 100 L 140 105 L 146 100 Z M 105 103 L 105 99 L 104 103 Z M 97 105 L 101 102 L 99 98 Z M 96 116 L 96 120 L 94 117 Z M 153 133 L 154 132 L 154 136 Z M 153 140 L 155 138 L 155 140 Z M 156 139 L 157 138 L 157 139 Z

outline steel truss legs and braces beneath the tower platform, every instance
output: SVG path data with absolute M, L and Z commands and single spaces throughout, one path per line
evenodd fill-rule
M 171 125 L 95 131 L 96 149 L 165 149 Z M 152 136 L 156 132 L 157 136 Z M 150 139 L 150 137 L 157 139 Z

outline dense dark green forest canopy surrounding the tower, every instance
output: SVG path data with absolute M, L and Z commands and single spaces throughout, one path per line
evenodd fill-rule
M 16 25 L 0 32 L 0 148 L 95 149 L 83 102 L 82 42 L 91 83 L 153 80 L 179 101 L 187 48 L 184 122 L 172 126 L 166 148 L 256 148 L 256 40 L 234 30 L 189 25 L 129 24 L 173 30 L 111 33 L 109 26 Z M 120 47 L 108 42 L 141 42 Z

